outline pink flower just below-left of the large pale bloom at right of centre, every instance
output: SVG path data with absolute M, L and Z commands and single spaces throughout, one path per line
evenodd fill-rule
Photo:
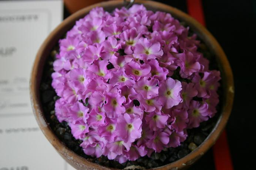
M 168 118 L 169 116 L 162 112 L 151 112 L 149 115 L 146 115 L 145 120 L 149 124 L 150 129 L 157 131 L 167 125 Z

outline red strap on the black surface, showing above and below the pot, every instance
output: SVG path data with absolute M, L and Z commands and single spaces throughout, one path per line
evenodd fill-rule
M 187 0 L 188 13 L 205 26 L 205 17 L 201 0 Z M 226 131 L 220 135 L 213 146 L 213 156 L 216 170 L 233 170 L 233 164 L 229 152 Z

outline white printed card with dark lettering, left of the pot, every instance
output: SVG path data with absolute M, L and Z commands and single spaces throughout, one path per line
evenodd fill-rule
M 0 170 L 74 170 L 38 128 L 28 90 L 37 50 L 62 19 L 62 0 L 0 1 Z

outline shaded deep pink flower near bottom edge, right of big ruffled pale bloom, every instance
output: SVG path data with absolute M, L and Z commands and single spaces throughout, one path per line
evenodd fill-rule
M 161 152 L 161 150 L 164 148 L 164 145 L 167 145 L 168 143 L 169 135 L 158 130 L 154 131 L 154 135 L 146 142 L 146 146 L 148 148 L 154 149 L 155 152 Z

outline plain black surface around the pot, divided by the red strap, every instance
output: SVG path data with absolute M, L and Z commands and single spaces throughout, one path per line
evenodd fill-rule
M 156 0 L 187 13 L 186 0 Z M 235 170 L 256 170 L 256 0 L 202 0 L 206 28 L 232 67 L 235 99 L 226 130 Z M 64 9 L 64 17 L 69 15 Z M 189 170 L 215 170 L 210 149 Z M 223 169 L 224 170 L 224 169 Z

